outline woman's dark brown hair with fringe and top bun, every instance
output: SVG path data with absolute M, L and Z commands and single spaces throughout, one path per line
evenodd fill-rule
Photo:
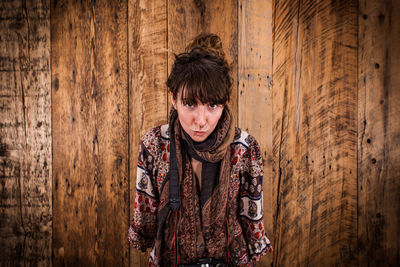
M 167 86 L 177 99 L 196 104 L 226 104 L 229 102 L 232 78 L 222 50 L 221 39 L 215 34 L 200 34 L 175 56 Z

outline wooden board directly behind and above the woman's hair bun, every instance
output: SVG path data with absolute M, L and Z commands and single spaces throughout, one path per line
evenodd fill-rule
M 174 54 L 184 52 L 201 32 L 218 34 L 233 78 L 230 107 L 237 120 L 237 1 L 168 1 L 168 73 Z

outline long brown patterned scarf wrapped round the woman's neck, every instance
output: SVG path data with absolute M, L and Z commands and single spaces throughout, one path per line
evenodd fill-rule
M 164 213 L 165 217 L 159 220 L 163 225 L 159 225 L 155 246 L 155 252 L 160 253 L 161 259 L 154 255 L 155 259 L 159 258 L 162 266 L 173 266 L 176 261 L 193 263 L 202 257 L 226 258 L 230 144 L 234 137 L 232 113 L 225 106 L 216 129 L 201 143 L 194 142 L 183 130 L 175 109 L 170 114 L 170 179 L 160 198 L 160 207 L 164 206 L 165 210 L 161 210 L 160 214 Z M 204 165 L 200 196 L 190 157 Z M 169 183 L 174 181 L 171 179 L 174 172 L 179 177 L 179 180 L 176 179 L 179 199 L 170 204 L 171 209 L 167 214 L 166 202 L 169 202 L 172 192 L 168 189 Z

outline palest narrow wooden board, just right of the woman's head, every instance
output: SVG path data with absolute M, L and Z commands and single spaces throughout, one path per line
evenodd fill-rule
M 239 1 L 238 13 L 238 125 L 263 152 L 264 224 L 273 243 L 272 1 Z M 264 257 L 259 265 L 271 262 L 272 257 Z

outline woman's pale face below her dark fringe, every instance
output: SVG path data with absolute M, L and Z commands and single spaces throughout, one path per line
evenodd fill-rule
M 214 131 L 221 118 L 223 105 L 203 104 L 199 100 L 194 105 L 182 103 L 181 95 L 177 99 L 171 94 L 171 102 L 178 111 L 178 119 L 185 132 L 196 142 L 202 142 Z

